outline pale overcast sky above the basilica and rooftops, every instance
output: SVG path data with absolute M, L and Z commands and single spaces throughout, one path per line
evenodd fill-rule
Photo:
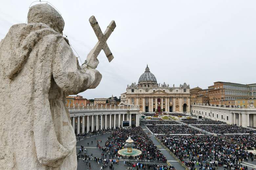
M 26 22 L 31 2 L 1 2 L 0 39 L 12 25 Z M 97 43 L 90 16 L 96 17 L 102 32 L 111 20 L 116 22 L 107 41 L 115 58 L 108 63 L 101 51 L 97 69 L 102 80 L 96 89 L 80 93 L 87 99 L 119 97 L 127 84 L 138 83 L 147 64 L 158 83 L 175 86 L 184 82 L 190 88 L 207 88 L 215 81 L 256 83 L 256 1 L 49 2 L 60 11 L 63 33 L 82 62 Z

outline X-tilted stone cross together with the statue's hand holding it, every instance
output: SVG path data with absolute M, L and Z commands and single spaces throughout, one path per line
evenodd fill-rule
M 116 23 L 114 20 L 112 20 L 103 34 L 94 16 L 90 17 L 89 22 L 98 38 L 98 42 L 87 55 L 87 59 L 85 60 L 84 64 L 86 64 L 88 68 L 96 68 L 99 63 L 96 58 L 99 55 L 101 49 L 103 49 L 103 51 L 105 52 L 109 62 L 111 62 L 114 58 L 106 41 L 109 38 L 110 34 L 116 28 Z

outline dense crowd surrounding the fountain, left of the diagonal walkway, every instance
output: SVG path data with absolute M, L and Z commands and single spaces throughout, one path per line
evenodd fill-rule
M 116 129 L 111 136 L 108 137 L 105 146 L 107 151 L 112 155 L 118 155 L 117 151 L 124 148 L 125 141 L 128 137 L 134 140 L 135 149 L 141 151 L 141 155 L 133 159 L 166 162 L 166 158 L 152 142 L 150 137 L 142 130 L 140 126 L 132 129 Z

